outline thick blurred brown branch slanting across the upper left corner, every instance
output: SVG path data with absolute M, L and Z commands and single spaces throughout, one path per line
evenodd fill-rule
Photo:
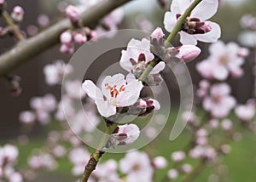
M 130 2 L 131 0 L 105 0 L 81 14 L 81 23 L 84 26 L 94 26 L 102 17 L 113 9 Z M 55 44 L 59 43 L 61 32 L 72 28 L 70 20 L 58 21 L 38 33 L 38 35 L 17 43 L 14 48 L 0 56 L 0 76 L 3 76 L 16 67 L 23 65 L 33 57 L 43 53 Z

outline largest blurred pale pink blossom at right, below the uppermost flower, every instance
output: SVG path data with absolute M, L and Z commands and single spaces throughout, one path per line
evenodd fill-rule
M 229 76 L 241 77 L 241 65 L 249 53 L 247 48 L 241 48 L 236 43 L 224 44 L 221 41 L 212 43 L 209 47 L 210 56 L 196 65 L 197 71 L 207 79 L 224 81 Z

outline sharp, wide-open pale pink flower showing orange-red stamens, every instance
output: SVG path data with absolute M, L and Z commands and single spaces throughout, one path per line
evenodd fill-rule
M 116 74 L 113 77 L 105 77 L 101 89 L 90 80 L 85 80 L 82 87 L 86 94 L 95 100 L 102 117 L 110 117 L 116 114 L 117 107 L 125 107 L 137 102 L 143 83 L 137 80 L 126 82 L 124 75 Z

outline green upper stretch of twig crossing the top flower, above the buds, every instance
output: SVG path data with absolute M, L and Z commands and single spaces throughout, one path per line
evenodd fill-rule
M 186 11 L 184 12 L 184 14 L 177 20 L 177 24 L 176 26 L 173 28 L 172 32 L 170 33 L 170 35 L 166 38 L 166 47 L 169 43 L 172 42 L 172 39 L 177 35 L 177 32 L 181 30 L 182 26 L 183 26 L 183 22 L 186 20 L 186 18 L 189 16 L 189 14 L 191 13 L 191 11 L 193 9 L 195 9 L 195 7 L 201 3 L 202 0 L 195 0 L 193 3 L 191 3 L 191 5 L 189 6 L 188 9 L 186 9 Z

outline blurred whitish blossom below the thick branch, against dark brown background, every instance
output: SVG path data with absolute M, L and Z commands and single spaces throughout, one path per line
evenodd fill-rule
M 44 66 L 45 81 L 49 85 L 61 83 L 64 74 L 70 74 L 72 71 L 71 65 L 67 65 L 63 60 L 57 60 L 53 64 Z

